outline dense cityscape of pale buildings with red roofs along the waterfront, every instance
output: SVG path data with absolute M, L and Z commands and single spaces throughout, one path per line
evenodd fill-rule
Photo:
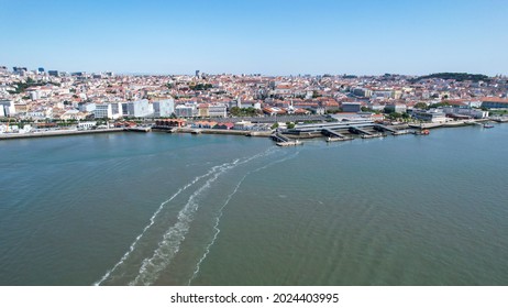
M 505 116 L 508 78 L 428 76 L 117 75 L 0 66 L 0 133 L 109 128 L 186 119 L 185 125 L 270 130 L 298 121 L 446 122 Z M 129 120 L 130 122 L 126 122 Z M 247 121 L 249 120 L 249 121 Z M 272 124 L 257 124 L 257 122 Z

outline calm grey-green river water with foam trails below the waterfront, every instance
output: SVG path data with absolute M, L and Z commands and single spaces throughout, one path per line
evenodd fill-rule
M 508 125 L 0 143 L 1 285 L 508 285 Z

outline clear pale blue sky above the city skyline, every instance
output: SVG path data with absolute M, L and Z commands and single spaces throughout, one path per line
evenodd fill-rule
M 506 0 L 0 0 L 0 16 L 9 67 L 508 75 Z

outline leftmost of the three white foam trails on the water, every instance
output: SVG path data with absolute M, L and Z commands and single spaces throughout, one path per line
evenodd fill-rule
M 233 164 L 235 164 L 239 160 L 234 161 Z M 155 223 L 155 219 L 157 218 L 157 216 L 159 215 L 159 212 L 164 209 L 164 206 L 166 206 L 168 202 L 170 202 L 173 199 L 175 199 L 181 191 L 186 190 L 187 188 L 189 188 L 190 186 L 195 185 L 198 180 L 207 177 L 207 176 L 210 176 L 211 174 L 216 173 L 218 169 L 227 166 L 227 165 L 230 165 L 230 163 L 225 163 L 225 164 L 222 164 L 222 165 L 218 165 L 218 166 L 213 166 L 211 167 L 206 174 L 203 175 L 200 175 L 200 176 L 197 176 L 195 177 L 190 183 L 188 183 L 187 185 L 185 185 L 184 187 L 180 187 L 169 199 L 167 199 L 166 201 L 162 202 L 161 206 L 158 207 L 158 209 L 154 212 L 154 215 L 150 218 L 150 223 L 143 229 L 143 231 L 135 238 L 134 242 L 132 242 L 131 246 L 129 248 L 129 251 L 125 252 L 125 254 L 120 258 L 120 261 L 113 265 L 113 267 L 111 267 L 108 272 L 106 272 L 106 274 L 98 280 L 93 285 L 95 286 L 99 286 L 100 284 L 102 284 L 104 280 L 107 280 L 111 274 L 120 266 L 122 265 L 125 260 L 129 257 L 129 255 L 134 251 L 134 249 L 136 248 L 136 244 L 137 242 L 141 240 L 141 238 L 143 238 L 143 235 L 146 233 L 146 231 Z

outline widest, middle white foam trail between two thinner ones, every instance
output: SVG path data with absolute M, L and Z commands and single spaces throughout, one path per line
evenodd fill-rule
M 252 160 L 269 154 L 272 151 L 265 151 L 257 155 L 251 156 L 239 163 L 239 160 L 229 165 L 222 165 L 219 172 L 213 174 L 198 190 L 196 190 L 190 197 L 187 204 L 178 213 L 178 221 L 170 227 L 163 235 L 163 240 L 158 243 L 158 248 L 154 251 L 154 254 L 150 258 L 145 258 L 140 267 L 139 275 L 130 283 L 130 285 L 152 285 L 159 276 L 161 272 L 166 268 L 173 261 L 176 253 L 180 249 L 180 243 L 185 240 L 185 235 L 188 233 L 190 223 L 194 220 L 194 213 L 198 210 L 199 204 L 195 201 L 202 191 L 210 187 L 216 179 L 225 173 L 227 170 L 249 163 Z

